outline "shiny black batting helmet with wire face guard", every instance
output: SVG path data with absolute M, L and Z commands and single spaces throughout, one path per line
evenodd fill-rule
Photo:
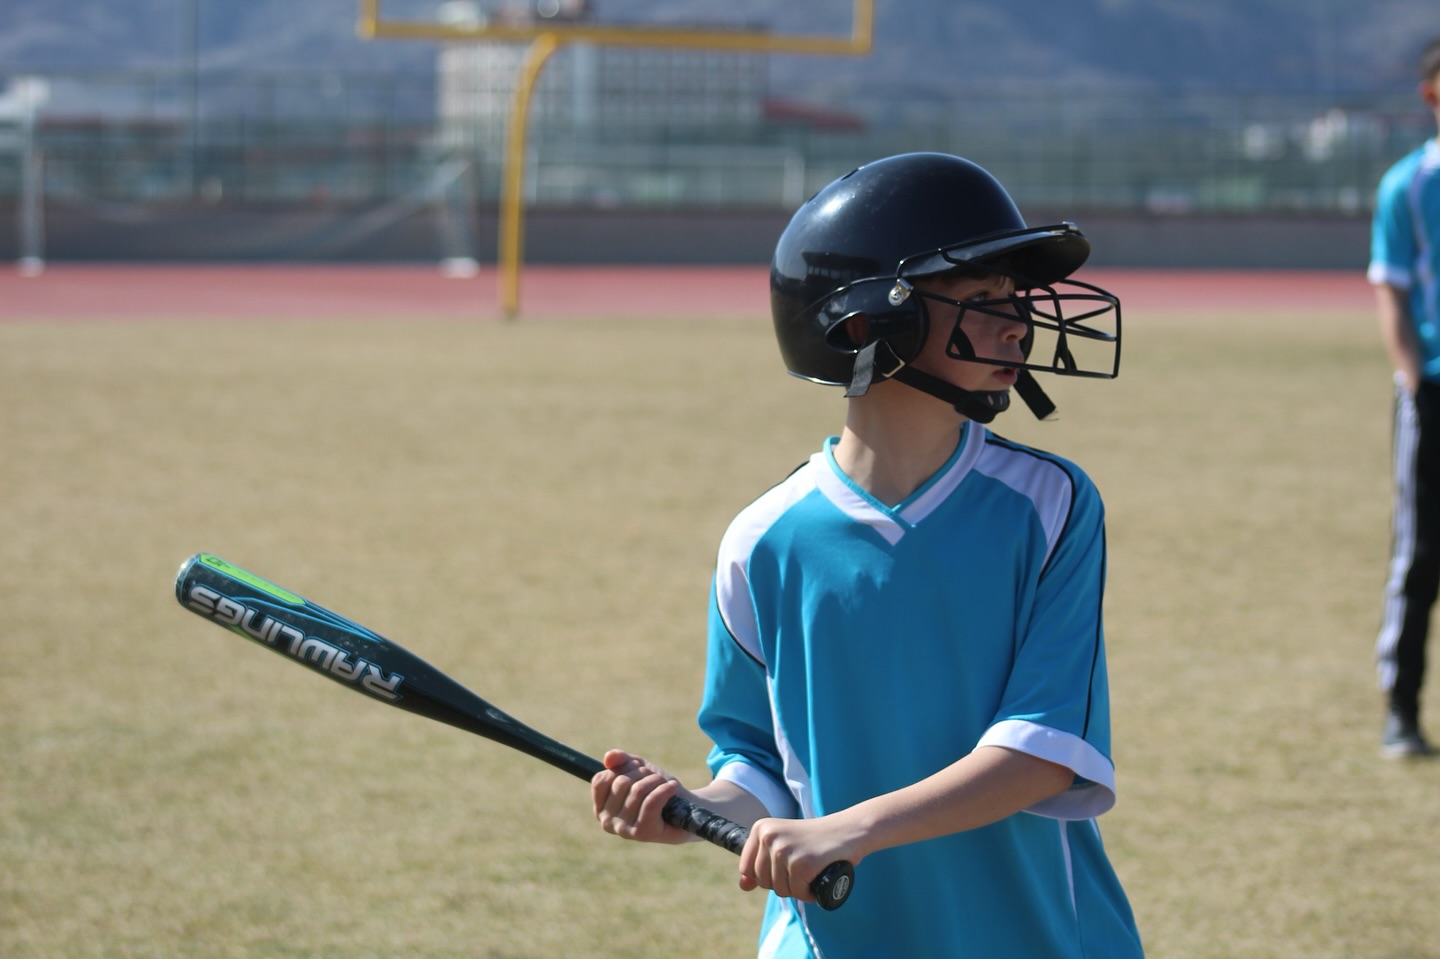
M 1073 223 L 1028 228 L 1005 187 L 969 160 L 940 153 L 877 160 L 811 197 L 776 243 L 770 315 L 780 356 L 795 376 L 847 386 L 851 396 L 894 377 L 988 422 L 1008 405 L 1008 393 L 965 393 L 907 364 L 932 333 L 927 301 L 960 307 L 946 331 L 948 354 L 958 360 L 986 361 L 965 336 L 966 311 L 1018 315 L 1031 328 L 1017 392 L 1032 409 L 1044 406 L 1035 409 L 1044 416 L 1054 408 L 1027 370 L 1102 377 L 1119 372 L 1119 300 L 1068 279 L 1089 255 L 1090 242 Z M 1017 292 L 959 304 L 914 288 L 927 276 L 965 269 L 1011 276 Z M 1080 292 L 1058 292 L 1063 282 Z M 1079 314 L 1067 317 L 1077 302 Z M 865 343 L 844 334 L 857 314 L 867 321 Z M 1037 334 L 1044 348 L 1037 348 Z M 1077 343 L 1086 348 L 1077 351 Z

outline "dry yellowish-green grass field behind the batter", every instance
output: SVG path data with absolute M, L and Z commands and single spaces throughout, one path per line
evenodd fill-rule
M 996 423 L 1109 505 L 1106 841 L 1152 959 L 1440 956 L 1440 763 L 1377 750 L 1374 321 L 1220 304 Z M 716 543 L 840 416 L 760 318 L 0 323 L 0 955 L 753 955 L 733 857 L 618 842 L 171 577 L 217 553 L 698 783 Z

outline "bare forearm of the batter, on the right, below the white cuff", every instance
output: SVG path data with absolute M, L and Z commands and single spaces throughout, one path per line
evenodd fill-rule
M 1074 782 L 1064 766 L 982 746 L 920 782 L 867 799 L 838 816 L 852 818 L 865 854 L 952 832 L 978 829 L 1060 795 Z

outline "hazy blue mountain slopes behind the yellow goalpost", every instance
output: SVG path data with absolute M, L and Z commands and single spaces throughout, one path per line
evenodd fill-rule
M 602 20 L 848 33 L 852 0 L 593 0 Z M 717 7 L 723 14 L 717 14 Z M 387 17 L 438 3 L 384 0 Z M 433 71 L 436 45 L 360 40 L 359 0 L 4 0 L 0 79 L 63 71 Z M 863 58 L 778 56 L 772 92 L 851 109 L 992 91 L 1313 94 L 1413 88 L 1436 0 L 876 0 Z

